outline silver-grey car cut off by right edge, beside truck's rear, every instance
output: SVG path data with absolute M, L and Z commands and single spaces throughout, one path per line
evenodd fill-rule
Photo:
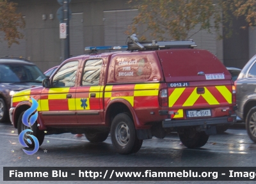
M 237 116 L 244 120 L 250 139 L 256 142 L 256 55 L 246 63 L 235 86 Z

